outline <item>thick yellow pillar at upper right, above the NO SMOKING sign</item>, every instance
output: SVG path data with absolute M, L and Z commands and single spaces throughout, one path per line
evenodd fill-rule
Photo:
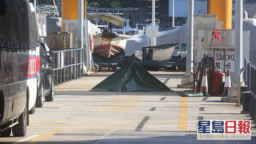
M 223 21 L 221 28 L 231 29 L 232 25 L 232 0 L 209 0 L 209 14 L 217 14 L 217 21 Z

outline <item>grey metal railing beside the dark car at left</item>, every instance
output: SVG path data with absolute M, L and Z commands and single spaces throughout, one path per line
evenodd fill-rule
M 52 57 L 55 85 L 84 76 L 82 48 L 52 48 L 51 50 L 48 53 Z

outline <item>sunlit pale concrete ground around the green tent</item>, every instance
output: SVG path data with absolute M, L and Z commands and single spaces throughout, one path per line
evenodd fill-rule
M 89 91 L 111 73 L 98 72 L 55 86 L 54 101 L 30 115 L 25 137 L 0 138 L 4 143 L 256 143 L 252 140 L 197 140 L 197 121 L 246 120 L 236 103 L 220 97 L 181 97 L 183 72 L 151 71 L 174 91 Z M 252 124 L 255 126 L 255 124 Z M 11 134 L 12 135 L 12 134 Z

